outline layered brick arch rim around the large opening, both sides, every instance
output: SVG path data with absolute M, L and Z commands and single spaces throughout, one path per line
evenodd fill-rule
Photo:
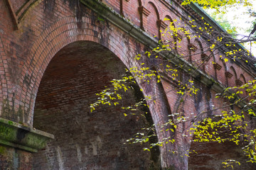
M 31 47 L 31 51 L 28 55 L 28 60 L 23 65 L 23 77 L 20 82 L 21 89 L 23 89 L 23 91 L 18 94 L 19 97 L 26 98 L 26 101 L 23 102 L 26 112 L 28 113 L 28 115 L 26 115 L 27 118 L 24 119 L 26 124 L 33 124 L 33 110 L 36 102 L 36 94 L 46 67 L 50 63 L 50 60 L 52 60 L 53 56 L 66 45 L 72 42 L 85 40 L 96 42 L 107 47 L 114 53 L 114 55 L 117 55 L 119 60 L 121 60 L 126 67 L 130 68 L 136 64 L 131 62 L 132 59 L 129 58 L 133 56 L 136 51 L 132 51 L 132 48 L 124 45 L 125 43 L 121 41 L 122 34 L 120 32 L 113 33 L 111 30 L 107 30 L 107 28 L 105 32 L 100 32 L 100 28 L 103 26 L 97 27 L 97 24 L 101 23 L 95 24 L 91 22 L 90 18 L 83 18 L 83 23 L 82 25 L 80 23 L 80 27 L 78 28 L 75 16 L 63 18 L 53 23 L 49 28 L 41 33 L 38 39 L 33 43 L 33 47 Z M 106 42 L 105 38 L 110 42 Z M 30 84 L 30 86 L 27 84 Z M 151 86 L 146 84 L 139 84 L 139 86 L 144 89 L 144 96 L 151 95 L 156 98 L 156 103 L 149 103 L 149 111 L 154 124 L 164 124 L 166 116 L 169 115 L 170 111 L 168 110 L 168 107 L 166 107 L 166 104 L 168 105 L 169 103 L 166 102 L 166 96 L 164 96 L 166 94 L 162 93 L 161 86 L 154 83 Z M 159 139 L 168 137 L 168 135 L 166 136 L 166 132 L 160 131 L 161 127 L 156 127 L 156 134 Z M 166 148 L 161 148 L 161 155 L 166 155 L 166 157 L 162 157 L 164 159 L 171 159 L 171 156 L 169 157 L 168 154 L 168 149 Z

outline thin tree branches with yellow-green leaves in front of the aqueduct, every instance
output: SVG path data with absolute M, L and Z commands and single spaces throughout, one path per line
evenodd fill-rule
M 243 4 L 250 6 L 247 0 L 244 1 L 211 1 L 211 0 L 185 0 L 183 5 L 189 3 L 198 3 L 202 6 L 210 6 L 210 8 Z M 223 9 L 223 8 L 222 8 Z M 165 19 L 169 20 L 169 19 Z M 201 18 L 203 21 L 203 18 Z M 239 43 L 252 42 L 255 44 L 255 38 L 246 37 L 238 40 L 234 36 L 230 36 L 228 33 L 218 32 L 212 28 L 208 23 L 203 24 L 194 21 L 188 21 L 186 26 L 178 27 L 177 21 L 171 21 L 170 25 L 166 30 L 161 31 L 162 40 L 159 41 L 158 47 L 152 50 L 148 50 L 143 54 L 138 54 L 134 57 L 137 66 L 134 66 L 127 70 L 127 75 L 123 75 L 122 79 L 113 79 L 111 81 L 112 86 L 101 91 L 97 94 L 98 99 L 95 103 L 91 104 L 91 111 L 94 111 L 97 106 L 101 104 L 107 105 L 118 105 L 122 101 L 122 94 L 133 89 L 134 84 L 152 84 L 159 83 L 164 79 L 164 74 L 170 75 L 171 79 L 176 82 L 174 89 L 169 91 L 176 91 L 181 96 L 192 96 L 197 95 L 198 90 L 194 86 L 192 74 L 195 71 L 191 71 L 186 79 L 181 79 L 179 75 L 182 67 L 186 63 L 182 64 L 170 64 L 173 60 L 184 59 L 193 67 L 195 70 L 203 69 L 203 65 L 208 62 L 210 57 L 213 57 L 213 53 L 216 51 L 225 53 L 225 56 L 220 56 L 224 62 L 234 60 L 244 62 L 245 64 L 252 66 L 255 64 L 255 60 L 250 56 L 250 51 L 245 50 Z M 175 27 L 176 26 L 176 27 Z M 201 58 L 198 61 L 191 61 L 191 55 L 186 55 L 181 49 L 182 39 L 187 38 L 188 40 L 195 40 L 196 38 L 203 38 L 208 42 L 210 49 L 203 49 L 202 52 L 210 52 L 206 58 Z M 191 47 L 190 50 L 193 50 Z M 201 53 L 202 53 L 201 52 Z M 163 54 L 171 53 L 172 57 L 164 57 Z M 187 52 L 189 54 L 189 52 Z M 146 63 L 146 64 L 145 64 Z M 213 64 L 215 64 L 213 62 Z M 146 66 L 146 67 L 145 67 Z M 166 91 L 168 93 L 168 91 Z M 246 94 L 246 95 L 245 95 Z M 247 84 L 242 86 L 228 87 L 225 89 L 223 94 L 218 94 L 216 98 L 220 98 L 220 101 L 228 101 L 221 108 L 213 108 L 211 111 L 218 111 L 218 115 L 208 116 L 208 111 L 198 113 L 196 116 L 187 117 L 182 113 L 172 113 L 169 115 L 169 120 L 166 121 L 161 127 L 169 132 L 175 132 L 178 125 L 187 122 L 190 123 L 190 129 L 188 134 L 193 134 L 195 137 L 194 142 L 234 142 L 240 145 L 242 142 L 246 145 L 242 145 L 241 149 L 247 154 L 248 162 L 256 162 L 256 128 L 253 125 L 256 118 L 256 81 L 248 81 Z M 155 102 L 154 96 L 145 96 L 142 101 L 139 101 L 134 106 L 123 106 L 124 116 L 129 114 L 137 114 L 137 110 L 149 106 L 149 103 Z M 182 101 L 181 101 L 182 102 Z M 235 109 L 236 108 L 236 109 Z M 146 114 L 146 113 L 145 113 Z M 142 115 L 144 116 L 144 115 Z M 149 142 L 151 137 L 155 137 L 155 125 L 149 125 L 145 127 L 144 132 L 138 132 L 135 137 L 127 140 L 129 143 L 143 143 Z M 228 130 L 227 130 L 228 129 Z M 145 132 L 145 130 L 147 132 Z M 223 133 L 225 132 L 225 135 Z M 186 135 L 186 134 L 184 134 Z M 176 142 L 173 136 L 166 137 L 162 141 L 151 142 L 149 148 L 144 150 L 150 150 L 156 146 L 163 146 L 166 143 Z M 176 151 L 172 151 L 176 152 Z M 223 160 L 224 166 L 233 167 L 233 163 L 237 161 Z

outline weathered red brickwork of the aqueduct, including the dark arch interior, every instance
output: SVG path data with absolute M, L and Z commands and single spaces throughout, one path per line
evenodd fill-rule
M 122 14 L 136 28 L 143 28 L 142 33 L 147 33 L 152 40 L 162 37 L 159 29 L 164 30 L 163 24 L 169 24 L 164 18 L 176 21 L 176 28 L 188 28 L 188 16 L 196 18 L 196 14 L 191 15 L 187 8 L 176 1 L 104 0 L 103 3 L 114 12 Z M 201 23 L 196 24 L 199 26 Z M 137 118 L 122 118 L 119 116 L 122 113 L 119 108 L 110 107 L 101 107 L 93 115 L 87 107 L 95 98 L 93 94 L 102 90 L 107 81 L 124 73 L 117 69 L 139 66 L 139 62 L 133 60 L 134 55 L 148 49 L 147 44 L 128 33 L 132 30 L 124 32 L 121 28 L 122 26 L 113 24 L 79 1 L 0 1 L 0 116 L 31 128 L 34 124 L 36 128 L 52 132 L 56 136 L 43 152 L 37 154 L 36 157 L 44 155 L 42 157 L 45 159 L 36 159 L 35 167 L 47 169 L 51 163 L 53 168 L 63 166 L 67 169 L 114 169 L 114 166 L 116 169 L 146 169 L 149 166 L 149 155 L 139 152 L 138 146 L 121 145 L 124 139 L 140 128 Z M 153 38 L 154 35 L 156 38 Z M 223 86 L 235 86 L 238 81 L 245 84 L 255 77 L 241 63 L 223 62 L 220 58 L 220 55 L 225 56 L 223 52 L 211 52 L 207 40 L 188 40 L 182 33 L 178 36 L 182 37 L 181 42 L 178 42 L 181 47 L 171 44 L 174 51 L 186 56 L 183 58 L 195 66 L 202 64 L 202 52 L 211 56 L 201 70 Z M 166 40 L 177 41 L 174 38 Z M 189 49 L 189 44 L 197 49 Z M 93 45 L 97 47 L 94 49 Z M 111 59 L 109 64 L 118 61 L 117 66 L 112 69 L 103 67 L 104 64 L 107 65 L 106 54 L 110 53 L 117 60 Z M 97 59 L 93 55 L 88 57 L 90 54 L 97 55 Z M 62 57 L 65 60 L 61 60 Z M 212 62 L 221 68 L 216 69 Z M 62 64 L 58 66 L 60 63 Z M 233 77 L 226 77 L 226 72 L 233 74 Z M 191 79 L 182 70 L 179 70 L 179 74 L 180 80 Z M 203 85 L 198 79 L 193 80 L 196 87 L 201 89 L 198 96 L 182 97 L 176 91 L 169 91 L 176 88 L 176 83 L 170 81 L 170 75 L 166 75 L 161 85 L 155 81 L 151 81 L 150 86 L 139 85 L 145 96 L 150 94 L 157 98 L 156 103 L 149 103 L 151 117 L 156 125 L 165 123 L 169 113 L 181 112 L 193 118 L 193 115 L 212 106 L 222 106 L 223 101 L 215 99 L 216 91 Z M 135 98 L 131 97 L 125 103 L 134 101 Z M 178 125 L 176 145 L 161 148 L 163 167 L 174 165 L 177 169 L 187 168 L 188 158 L 180 159 L 180 156 L 188 153 L 186 150 L 191 144 L 191 137 L 181 136 L 188 135 L 188 125 L 189 123 Z M 99 126 L 99 129 L 95 130 L 95 126 Z M 170 135 L 169 132 L 161 132 L 158 126 L 156 132 L 160 141 Z M 106 148 L 99 149 L 103 144 Z M 179 153 L 171 155 L 169 149 L 179 149 Z M 14 151 L 9 152 L 11 153 Z M 18 150 L 18 157 L 23 154 L 28 153 Z M 19 160 L 19 169 L 31 169 L 31 154 L 28 155 L 26 164 Z M 87 157 L 88 155 L 92 157 Z M 1 154 L 1 160 L 6 164 L 13 162 L 14 158 Z M 76 166 L 73 162 L 77 163 Z M 1 167 L 7 168 L 5 165 Z

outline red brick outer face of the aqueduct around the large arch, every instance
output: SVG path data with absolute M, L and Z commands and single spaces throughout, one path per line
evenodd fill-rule
M 128 68 L 139 65 L 138 63 L 132 62 L 132 58 L 139 52 L 143 53 L 144 49 L 146 49 L 144 45 L 134 40 L 129 34 L 124 33 L 117 26 L 106 21 L 105 18 L 101 18 L 97 13 L 82 4 L 78 6 L 78 1 L 36 1 L 31 6 L 23 6 L 21 11 L 24 11 L 24 13 L 19 16 L 12 16 L 11 13 L 16 13 L 18 8 L 21 7 L 21 3 L 25 1 L 10 1 L 12 3 L 11 6 L 14 6 L 14 11 L 10 11 L 10 8 L 8 8 L 8 1 L 0 1 L 1 118 L 14 120 L 24 125 L 33 125 L 34 106 L 35 104 L 36 106 L 38 105 L 36 103 L 36 95 L 39 84 L 53 56 L 65 47 L 65 45 L 78 41 L 97 42 L 107 47 L 114 55 L 119 57 L 119 60 Z M 119 13 L 120 1 L 104 1 L 104 3 Z M 188 27 L 186 22 L 189 19 L 188 15 L 191 15 L 191 13 L 188 13 L 185 8 L 176 4 L 176 1 L 173 1 L 171 4 L 169 1 L 154 0 L 150 1 L 149 4 L 149 1 L 145 0 L 139 4 L 139 1 L 123 0 L 122 3 L 124 17 L 136 26 L 139 26 L 139 23 L 144 23 L 146 33 L 149 33 L 149 35 L 158 35 L 159 28 L 156 26 L 156 21 L 158 19 L 164 21 L 164 17 L 167 15 L 173 21 L 177 21 L 176 27 Z M 140 17 L 137 7 L 131 8 L 129 4 L 144 6 L 151 13 L 148 17 Z M 18 18 L 18 20 L 15 21 L 15 18 Z M 200 24 L 200 22 L 197 24 Z M 191 31 L 193 30 L 191 29 Z M 199 38 L 198 40 L 203 45 L 203 49 L 209 47 L 207 40 L 203 38 Z M 191 40 L 191 43 L 194 42 L 194 40 Z M 180 45 L 181 48 L 178 50 L 178 54 L 188 55 L 188 40 L 183 38 Z M 207 55 L 210 55 L 210 53 L 210 51 L 206 52 Z M 231 60 L 223 63 L 223 60 L 220 59 L 220 55 L 224 56 L 223 52 L 216 50 L 213 53 L 215 60 L 211 57 L 206 63 L 206 74 L 218 80 L 224 86 L 233 86 L 235 84 L 235 74 L 238 75 L 238 79 L 243 79 L 240 76 L 241 74 L 245 77 L 245 80 L 243 79 L 242 82 L 246 82 L 253 77 L 240 64 Z M 186 60 L 188 60 L 188 57 L 186 57 Z M 221 66 L 220 70 L 213 68 L 211 64 L 213 61 Z M 231 66 L 234 67 L 235 72 L 230 69 Z M 230 72 L 230 74 L 234 75 L 231 79 L 228 79 L 225 76 L 225 72 Z M 57 76 L 57 74 L 53 74 L 53 76 Z M 68 84 L 63 84 L 64 86 L 68 86 Z M 161 89 L 158 89 L 158 85 L 156 84 L 152 84 L 151 86 L 141 84 L 140 86 L 144 89 L 145 94 L 154 94 L 156 98 L 161 96 Z M 164 83 L 164 88 L 171 88 L 171 86 L 172 84 L 170 82 Z M 203 99 L 200 104 L 196 103 L 196 97 L 188 97 L 186 104 L 183 104 L 183 110 L 187 111 L 188 114 L 201 111 L 201 109 L 197 111 L 196 108 L 201 108 L 201 105 L 207 105 L 208 100 L 211 100 L 212 103 L 215 102 L 214 105 L 218 106 L 219 101 L 215 101 L 214 98 L 215 91 L 207 89 L 208 87 L 199 87 L 205 89 L 202 91 L 210 92 L 211 98 L 207 98 L 206 100 L 206 98 L 202 97 Z M 169 91 L 168 89 L 164 90 Z M 85 93 L 85 91 L 82 91 L 82 93 Z M 166 120 L 167 114 L 170 112 L 168 110 L 176 111 L 178 104 L 175 103 L 179 100 L 178 95 L 174 91 L 170 93 L 166 94 L 166 100 L 169 102 L 168 106 L 170 106 L 170 109 L 164 107 L 167 103 L 164 103 L 163 96 L 156 103 L 150 103 L 149 108 L 154 123 L 163 123 Z M 203 93 L 202 96 L 205 94 Z M 75 98 L 75 96 L 73 97 Z M 70 102 L 68 103 L 69 105 L 72 103 L 68 98 L 65 98 L 65 100 L 66 102 Z M 45 103 L 47 102 L 45 101 Z M 51 101 L 49 102 L 49 106 L 50 104 L 52 104 Z M 184 126 L 186 127 L 186 125 Z M 183 125 L 178 128 L 182 130 Z M 166 134 L 163 132 L 163 134 L 159 134 L 159 137 L 164 137 L 164 135 Z M 177 137 L 178 135 L 181 135 L 181 133 L 177 133 Z M 182 142 L 189 146 L 188 141 L 181 140 Z M 73 143 L 73 146 L 76 146 L 76 144 Z M 178 145 L 175 147 L 178 147 Z M 163 164 L 173 164 L 171 160 L 172 156 L 168 154 L 168 151 L 165 154 L 164 152 L 163 149 Z M 181 159 L 177 158 L 177 160 L 181 161 L 177 163 L 180 166 L 186 164 L 186 160 L 183 163 Z

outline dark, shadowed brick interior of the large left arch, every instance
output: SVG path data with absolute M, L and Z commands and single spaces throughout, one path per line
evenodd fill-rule
M 159 152 L 124 145 L 147 123 L 139 114 L 124 117 L 121 109 L 137 101 L 138 91 L 124 94 L 120 107 L 90 112 L 95 93 L 125 74 L 124 68 L 95 42 L 73 42 L 55 54 L 41 79 L 33 115 L 33 127 L 52 133 L 55 140 L 34 154 L 33 169 L 149 169 L 157 164 Z

